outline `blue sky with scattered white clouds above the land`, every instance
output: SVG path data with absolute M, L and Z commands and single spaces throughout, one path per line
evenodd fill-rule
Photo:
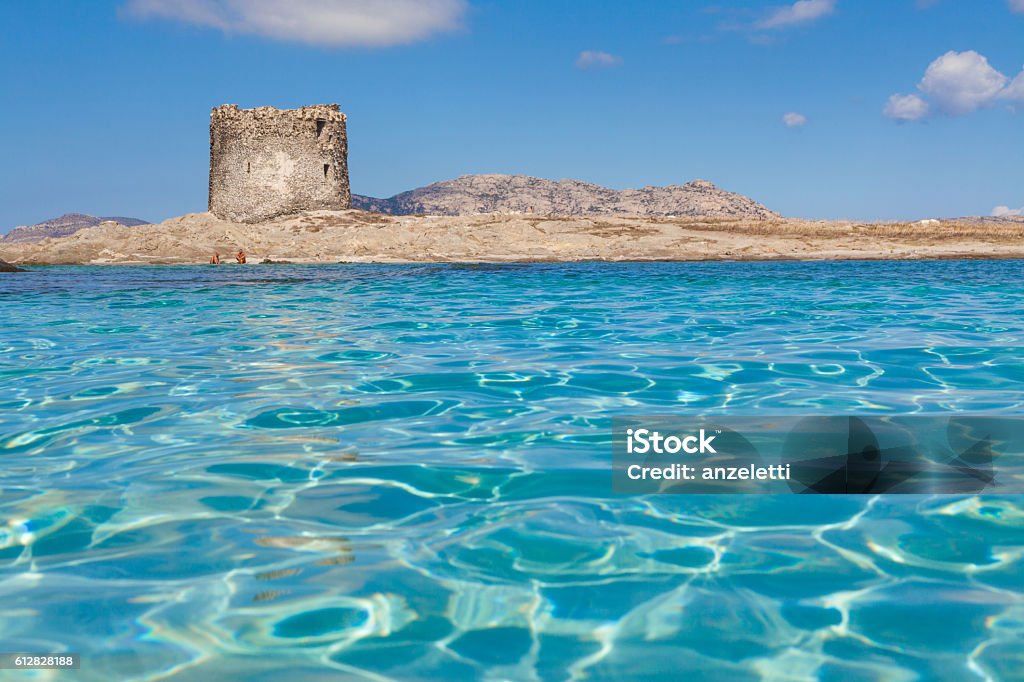
M 1024 0 L 9 0 L 0 26 L 0 231 L 205 210 L 223 102 L 340 103 L 373 196 L 501 172 L 1024 207 Z

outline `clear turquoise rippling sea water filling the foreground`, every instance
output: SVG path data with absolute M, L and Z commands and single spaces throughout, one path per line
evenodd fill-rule
M 1019 497 L 628 498 L 607 468 L 618 415 L 1022 414 L 1022 281 L 5 276 L 0 648 L 82 652 L 52 679 L 1022 679 Z

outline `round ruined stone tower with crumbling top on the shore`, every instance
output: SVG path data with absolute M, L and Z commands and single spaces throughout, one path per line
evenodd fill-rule
M 351 206 L 345 115 L 217 106 L 210 114 L 210 212 L 236 222 Z

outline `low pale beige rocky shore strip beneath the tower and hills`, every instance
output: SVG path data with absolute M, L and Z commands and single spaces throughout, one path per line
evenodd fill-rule
M 352 210 L 242 224 L 194 213 L 139 227 L 105 223 L 36 244 L 0 242 L 0 259 L 205 263 L 214 251 L 232 260 L 239 249 L 250 263 L 1024 258 L 1024 222 L 419 217 Z

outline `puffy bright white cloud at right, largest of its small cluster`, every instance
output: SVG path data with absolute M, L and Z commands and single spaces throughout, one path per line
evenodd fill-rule
M 963 116 L 991 104 L 1008 80 L 974 50 L 949 50 L 928 65 L 918 89 L 946 114 Z

